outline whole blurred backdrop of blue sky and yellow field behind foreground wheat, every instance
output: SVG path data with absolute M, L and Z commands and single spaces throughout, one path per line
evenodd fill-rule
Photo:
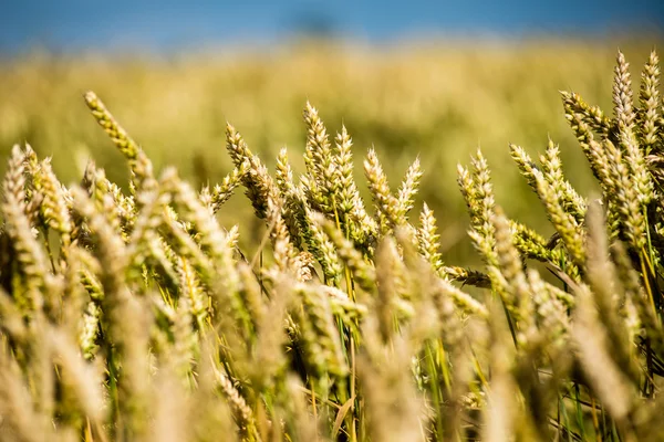
M 268 165 L 287 146 L 302 170 L 309 99 L 332 135 L 344 124 L 353 136 L 361 183 L 371 146 L 394 189 L 419 156 L 447 260 L 473 262 L 456 165 L 481 148 L 498 203 L 551 233 L 508 144 L 537 156 L 551 137 L 572 183 L 592 191 L 559 91 L 610 114 L 618 49 L 637 88 L 663 29 L 661 0 L 2 1 L 0 152 L 27 141 L 66 183 L 87 158 L 124 182 L 83 103 L 93 90 L 158 169 L 197 186 L 231 170 L 226 120 Z M 260 238 L 250 215 L 241 194 L 220 214 L 247 246 Z

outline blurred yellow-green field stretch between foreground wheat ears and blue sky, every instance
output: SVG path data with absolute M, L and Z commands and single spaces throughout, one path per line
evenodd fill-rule
M 531 210 L 536 200 L 512 166 L 508 145 L 539 155 L 550 136 L 560 144 L 571 181 L 589 189 L 589 168 L 564 120 L 559 91 L 610 108 L 616 44 L 440 42 L 376 50 L 311 43 L 168 61 L 28 56 L 0 66 L 0 151 L 25 140 L 40 155 L 53 156 L 64 182 L 80 179 L 89 157 L 112 179 L 125 177 L 120 155 L 82 102 L 92 90 L 157 168 L 175 165 L 197 185 L 215 183 L 230 171 L 226 122 L 270 167 L 286 146 L 295 171 L 302 171 L 302 109 L 309 101 L 332 135 L 346 126 L 356 158 L 375 147 L 394 186 L 419 156 L 422 199 L 440 220 L 444 248 L 465 259 L 467 219 L 457 164 L 481 148 L 500 170 L 496 188 L 506 210 L 546 229 L 543 212 Z M 644 61 L 652 45 L 633 42 L 623 51 Z M 242 198 L 234 198 L 231 207 L 220 214 L 228 222 L 249 218 Z

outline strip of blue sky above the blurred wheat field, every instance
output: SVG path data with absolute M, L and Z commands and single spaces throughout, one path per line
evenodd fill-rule
M 664 30 L 664 0 L 0 0 L 0 51 L 190 50 L 271 43 L 303 30 L 393 42 Z

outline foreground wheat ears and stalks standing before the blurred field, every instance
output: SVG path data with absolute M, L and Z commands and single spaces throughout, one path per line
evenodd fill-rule
M 660 440 L 657 64 L 653 52 L 636 105 L 619 54 L 613 118 L 563 93 L 601 197 L 577 193 L 552 141 L 539 164 L 511 147 L 556 228 L 550 240 L 506 218 L 480 152 L 459 167 L 484 272 L 442 261 L 426 204 L 408 220 L 417 160 L 393 191 L 369 151 L 369 210 L 350 135 L 331 140 L 309 104 L 298 180 L 286 149 L 272 176 L 229 125 L 235 170 L 197 192 L 174 169 L 156 177 L 87 93 L 128 161 L 129 193 L 92 162 L 65 187 L 48 158 L 13 148 L 0 440 Z M 215 217 L 239 186 L 266 224 L 247 255 L 238 229 Z

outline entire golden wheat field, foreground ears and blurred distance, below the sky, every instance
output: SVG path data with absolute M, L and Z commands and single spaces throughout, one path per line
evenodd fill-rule
M 4 61 L 0 440 L 662 440 L 652 46 Z

